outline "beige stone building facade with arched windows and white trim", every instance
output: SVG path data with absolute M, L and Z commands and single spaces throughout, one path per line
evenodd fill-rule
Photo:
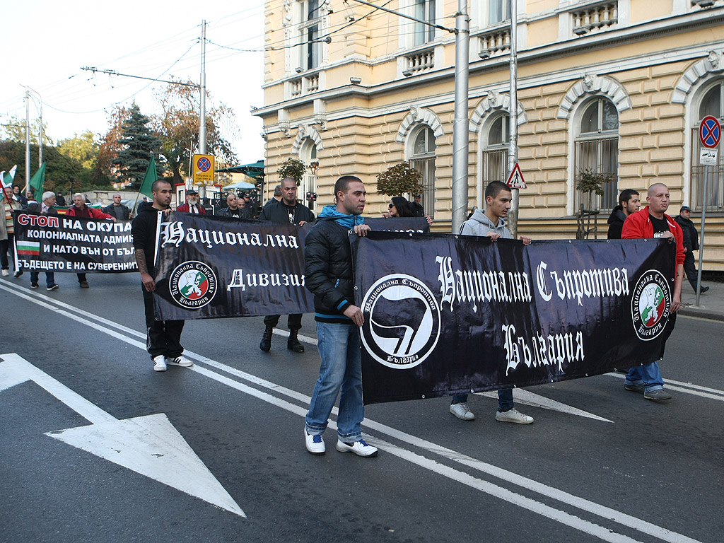
M 593 206 L 599 238 L 621 190 L 665 182 L 673 216 L 689 205 L 701 230 L 705 207 L 704 269 L 724 271 L 724 153 L 700 166 L 698 135 L 705 116 L 724 120 L 724 0 L 517 0 L 514 109 L 509 1 L 468 1 L 468 206 L 507 177 L 515 111 L 528 185 L 519 232 L 575 237 L 582 172 L 607 177 Z M 458 1 L 384 7 L 452 30 Z M 268 0 L 265 40 L 264 198 L 293 157 L 313 166 L 299 193 L 318 195 L 315 211 L 332 203 L 337 177 L 356 174 L 366 214 L 379 216 L 388 198 L 376 174 L 409 160 L 433 230 L 450 232 L 455 34 L 355 0 Z

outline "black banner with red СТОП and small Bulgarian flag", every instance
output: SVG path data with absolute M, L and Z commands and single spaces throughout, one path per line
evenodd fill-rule
M 117 273 L 138 271 L 130 221 L 14 213 L 20 269 Z

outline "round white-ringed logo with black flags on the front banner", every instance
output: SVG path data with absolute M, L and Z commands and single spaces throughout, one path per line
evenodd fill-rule
M 440 336 L 440 309 L 432 291 L 415 277 L 378 279 L 362 300 L 362 342 L 376 361 L 410 369 L 425 360 Z

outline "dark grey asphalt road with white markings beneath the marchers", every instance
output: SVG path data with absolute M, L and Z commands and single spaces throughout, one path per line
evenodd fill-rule
M 317 457 L 311 316 L 301 355 L 276 334 L 261 353 L 261 318 L 187 321 L 195 366 L 156 373 L 137 274 L 88 277 L 0 279 L 0 542 L 724 540 L 722 322 L 678 319 L 668 402 L 610 374 L 516 391 L 528 426 L 483 395 L 473 422 L 445 398 L 371 405 L 378 457 L 332 427 Z M 121 460 L 125 439 L 164 465 Z

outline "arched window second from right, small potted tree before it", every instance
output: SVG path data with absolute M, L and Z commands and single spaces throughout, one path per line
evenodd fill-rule
M 593 202 L 597 209 L 613 209 L 618 196 L 618 111 L 608 98 L 585 102 L 578 117 L 574 187 L 583 172 L 607 177 L 603 195 Z M 574 211 L 581 209 L 581 191 L 575 189 Z

